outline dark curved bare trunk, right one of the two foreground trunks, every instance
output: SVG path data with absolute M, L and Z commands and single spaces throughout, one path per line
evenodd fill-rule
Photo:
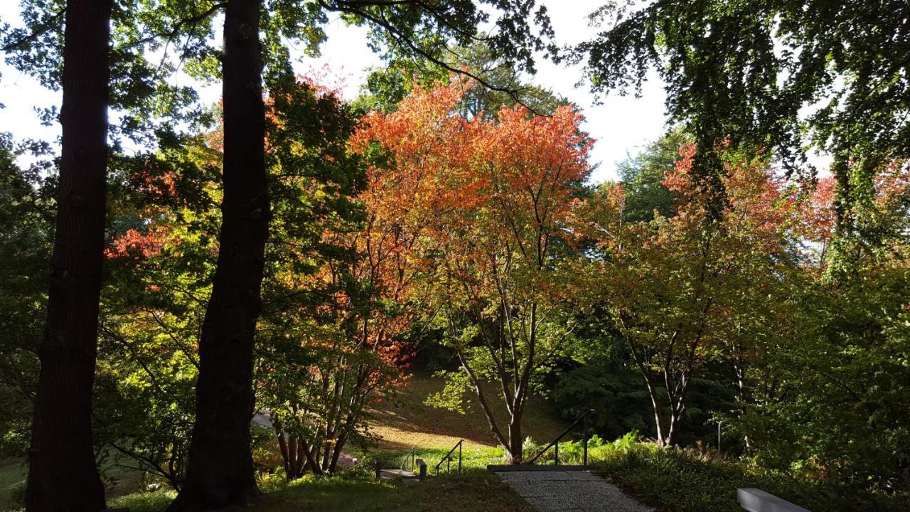
M 259 496 L 250 453 L 253 338 L 268 238 L 259 0 L 231 0 L 223 56 L 224 200 L 212 295 L 199 338 L 197 415 L 187 482 L 170 510 Z

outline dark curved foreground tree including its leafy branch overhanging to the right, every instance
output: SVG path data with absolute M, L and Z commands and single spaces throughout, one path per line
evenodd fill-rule
M 492 4 L 501 8 L 497 24 L 503 27 L 503 33 L 490 36 L 490 43 L 521 67 L 532 68 L 531 49 L 543 47 L 541 38 L 532 34 L 525 22 L 533 3 L 496 1 Z M 440 8 L 428 8 L 422 2 L 346 1 L 319 2 L 309 7 L 297 3 L 281 5 L 274 17 L 267 11 L 262 26 L 270 43 L 267 61 L 277 62 L 278 66 L 286 63 L 281 37 L 298 37 L 300 26 L 315 28 L 326 21 L 330 12 L 341 13 L 353 23 L 370 25 L 389 45 L 408 47 L 428 58 L 435 58 L 450 38 L 459 42 L 475 38 L 476 26 L 490 17 L 469 0 Z M 253 335 L 261 307 L 259 292 L 269 219 L 265 168 L 260 164 L 265 145 L 264 128 L 260 126 L 264 127 L 264 121 L 258 120 L 264 111 L 261 98 L 264 60 L 262 47 L 254 44 L 260 40 L 260 9 L 261 2 L 249 1 L 229 3 L 225 11 L 226 57 L 222 59 L 221 74 L 225 109 L 225 202 L 219 242 L 224 261 L 219 261 L 217 266 L 200 338 L 197 424 L 187 485 L 171 510 L 223 507 L 245 503 L 258 495 L 248 455 L 247 424 L 253 406 L 250 385 Z M 543 11 L 538 12 L 537 20 L 546 31 L 548 24 Z M 424 31 L 431 36 L 424 36 Z M 321 40 L 319 29 L 312 33 L 311 43 Z M 233 50 L 232 45 L 236 46 Z M 256 94 L 250 92 L 250 87 Z M 235 166 L 237 169 L 230 169 Z M 209 358 L 211 363 L 206 364 Z M 227 396 L 231 398 L 226 399 Z

